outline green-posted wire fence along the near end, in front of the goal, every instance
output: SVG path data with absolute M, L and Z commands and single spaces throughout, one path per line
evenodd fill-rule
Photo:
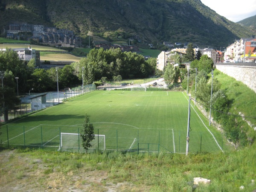
M 38 125 L 35 127 L 4 125 L 1 128 L 2 148 L 40 148 L 84 152 L 79 134 L 81 127 Z M 63 137 L 63 134 L 70 135 Z M 132 153 L 185 153 L 186 137 L 174 134 L 172 129 L 148 130 L 135 128 L 98 128 L 95 129 L 93 147 L 89 152 L 124 151 Z M 200 133 L 195 133 L 200 135 Z M 150 135 L 150 137 L 148 137 Z M 100 136 L 100 137 L 99 137 Z M 104 139 L 103 139 L 104 138 Z M 200 136 L 199 136 L 200 138 Z M 208 137 L 201 134 L 200 140 L 191 140 L 189 151 L 197 153 L 211 150 Z

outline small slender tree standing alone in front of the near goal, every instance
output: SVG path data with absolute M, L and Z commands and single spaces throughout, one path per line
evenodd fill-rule
M 90 123 L 89 117 L 89 115 L 85 114 L 83 128 L 80 133 L 80 137 L 82 139 L 82 146 L 85 149 L 86 153 L 88 152 L 88 148 L 92 146 L 90 142 L 94 140 L 95 137 L 93 124 Z

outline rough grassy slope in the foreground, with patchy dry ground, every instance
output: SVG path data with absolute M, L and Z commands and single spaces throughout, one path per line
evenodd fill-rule
M 198 191 L 253 191 L 256 145 L 219 154 L 72 154 L 0 152 L 2 191 L 192 191 L 194 177 L 211 180 Z

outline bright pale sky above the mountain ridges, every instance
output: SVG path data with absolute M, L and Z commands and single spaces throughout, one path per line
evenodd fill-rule
M 233 22 L 256 15 L 256 0 L 201 0 L 201 2 L 218 15 Z

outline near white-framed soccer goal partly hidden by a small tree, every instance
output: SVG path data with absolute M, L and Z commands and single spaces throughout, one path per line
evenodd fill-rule
M 105 151 L 105 135 L 94 135 L 94 140 L 91 141 L 92 147 L 88 149 L 88 152 L 94 151 Z M 60 147 L 59 151 L 78 151 L 84 152 L 82 147 L 82 140 L 80 134 L 74 133 L 61 133 Z

